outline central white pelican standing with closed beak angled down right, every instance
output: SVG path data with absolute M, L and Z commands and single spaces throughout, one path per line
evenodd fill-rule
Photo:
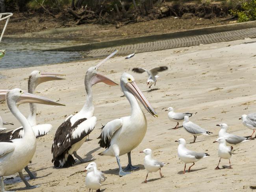
M 100 137 L 98 137 L 100 138 L 98 143 L 101 147 L 106 148 L 106 150 L 99 153 L 99 155 L 116 157 L 119 166 L 119 175 L 123 176 L 130 174 L 126 171 L 139 168 L 132 166 L 131 151 L 141 143 L 147 131 L 147 119 L 141 110 L 136 97 L 150 114 L 154 117 L 157 117 L 158 114 L 137 87 L 133 76 L 124 72 L 121 76 L 120 83 L 122 92 L 124 92 L 124 95 L 130 102 L 132 114 L 131 116 L 118 118 L 108 122 L 102 127 L 102 132 Z M 119 156 L 126 153 L 128 155 L 128 165 L 122 170 Z

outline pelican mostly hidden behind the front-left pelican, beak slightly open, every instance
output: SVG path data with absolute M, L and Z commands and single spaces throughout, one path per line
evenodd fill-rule
M 34 70 L 28 79 L 28 92 L 31 94 L 35 94 L 36 87 L 46 81 L 54 81 L 54 80 L 62 80 L 64 78 L 59 78 L 56 76 L 63 76 L 62 74 L 57 73 L 48 73 L 48 72 L 40 72 Z M 28 116 L 28 122 L 32 126 L 32 129 L 35 133 L 36 138 L 42 137 L 49 133 L 52 130 L 51 124 L 41 124 L 37 125 L 36 121 L 36 105 L 35 103 L 30 103 L 30 113 Z M 22 138 L 24 135 L 23 127 L 19 127 L 14 129 L 13 131 L 9 131 L 4 134 L 0 134 L 0 142 L 5 142 L 6 140 L 15 139 L 15 138 Z M 26 172 L 30 176 L 30 178 L 35 179 L 36 177 L 32 174 L 29 170 L 28 166 L 25 167 Z

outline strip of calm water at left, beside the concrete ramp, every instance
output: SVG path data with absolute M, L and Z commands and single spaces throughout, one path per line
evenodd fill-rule
M 0 59 L 0 70 L 78 61 L 83 59 L 82 52 L 49 52 L 42 50 L 84 43 L 86 42 L 66 39 L 4 37 L 0 43 L 0 50 L 5 49 L 6 55 Z

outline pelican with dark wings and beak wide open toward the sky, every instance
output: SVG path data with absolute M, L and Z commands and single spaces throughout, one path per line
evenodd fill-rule
M 72 157 L 73 154 L 80 162 L 86 162 L 76 153 L 76 151 L 82 146 L 86 136 L 93 131 L 96 125 L 97 118 L 93 116 L 92 86 L 100 82 L 112 86 L 117 85 L 117 83 L 97 72 L 98 67 L 107 59 L 115 55 L 116 52 L 117 51 L 113 52 L 98 65 L 92 66 L 87 70 L 84 82 L 87 98 L 83 108 L 78 113 L 74 115 L 71 114 L 66 118 L 55 133 L 54 142 L 52 144 L 52 162 L 54 162 L 54 167 L 72 166 L 75 163 L 75 160 Z

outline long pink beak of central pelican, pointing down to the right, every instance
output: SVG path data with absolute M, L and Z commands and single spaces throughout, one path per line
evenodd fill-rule
M 153 107 L 150 105 L 148 100 L 145 98 L 145 96 L 142 94 L 142 92 L 137 87 L 135 81 L 132 81 L 130 83 L 126 83 L 125 87 L 134 94 L 135 97 L 144 105 L 144 107 L 147 109 L 147 111 L 152 114 L 154 117 L 158 117 L 158 114 L 153 109 Z

